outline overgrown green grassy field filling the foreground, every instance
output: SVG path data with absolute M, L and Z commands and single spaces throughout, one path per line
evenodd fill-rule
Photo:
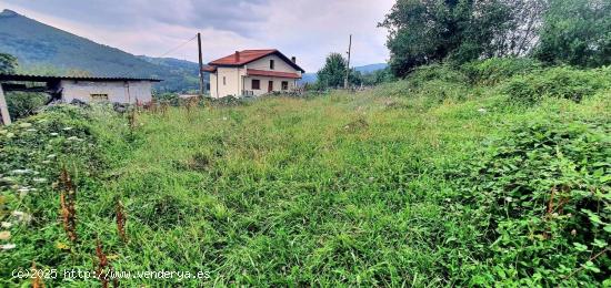
M 609 277 L 610 263 L 611 94 L 595 86 L 580 103 L 550 96 L 519 104 L 502 91 L 515 89 L 511 81 L 524 78 L 477 85 L 423 76 L 420 84 L 413 79 L 357 93 L 171 107 L 136 114 L 131 128 L 124 116 L 102 109 L 58 107 L 24 120 L 0 135 L 0 217 L 16 223 L 8 228 L 10 239 L 1 243 L 16 247 L 0 251 L 0 284 L 29 282 L 11 272 L 28 269 L 32 261 L 60 271 L 58 279 L 44 279 L 54 286 L 99 282 L 61 279 L 68 269 L 93 270 L 99 264 L 97 240 L 116 271 L 204 271 L 202 281 L 218 286 L 600 284 Z M 588 163 L 573 163 L 600 178 L 589 183 L 592 195 L 602 195 L 595 196 L 600 209 L 594 212 L 602 224 L 597 230 L 585 225 L 590 234 L 580 240 L 567 236 L 579 209 L 567 223 L 562 210 L 545 216 L 554 203 L 549 195 L 524 196 L 535 206 L 528 208 L 534 216 L 520 209 L 512 216 L 514 191 L 485 194 L 482 184 L 492 187 L 502 179 L 473 168 L 504 165 L 490 147 L 537 138 L 539 132 L 531 135 L 529 128 L 565 126 L 575 135 L 568 140 L 594 143 L 585 145 L 594 147 L 588 154 L 592 165 L 594 156 L 602 158 L 594 165 L 602 175 L 594 175 Z M 505 146 L 494 146 L 498 141 Z M 552 154 L 542 160 L 574 160 Z M 527 164 L 501 168 L 509 176 L 528 176 Z M 62 183 L 54 183 L 63 165 L 77 187 L 74 243 L 62 227 Z M 545 175 L 538 177 L 563 179 Z M 584 178 L 574 177 L 574 183 Z M 18 193 L 23 187 L 29 191 Z M 479 192 L 490 197 L 471 195 Z M 127 215 L 127 240 L 117 232 L 118 202 Z M 571 205 L 583 208 L 584 203 L 591 204 Z M 569 210 L 569 204 L 561 205 Z M 20 219 L 16 210 L 31 219 Z M 557 225 L 538 232 L 530 216 Z M 519 220 L 524 219 L 524 230 L 503 228 L 508 223 L 522 227 Z M 507 235 L 523 241 L 505 241 Z M 597 247 L 585 239 L 604 244 Z M 579 241 L 585 248 L 574 245 Z M 154 287 L 199 280 L 119 281 Z

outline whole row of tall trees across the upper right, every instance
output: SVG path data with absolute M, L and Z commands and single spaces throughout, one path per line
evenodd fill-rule
M 609 0 L 398 0 L 379 25 L 395 76 L 438 62 L 534 56 L 549 64 L 611 64 Z

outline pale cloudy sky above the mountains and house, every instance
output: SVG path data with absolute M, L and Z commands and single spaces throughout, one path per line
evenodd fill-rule
M 0 10 L 26 17 L 137 55 L 204 62 L 244 49 L 279 49 L 308 72 L 330 52 L 352 64 L 385 62 L 387 30 L 378 28 L 394 0 L 2 0 Z M 167 53 L 169 52 L 169 53 Z

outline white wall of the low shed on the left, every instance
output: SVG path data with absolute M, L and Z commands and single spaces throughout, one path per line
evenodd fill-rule
M 108 94 L 109 102 L 140 103 L 151 102 L 151 82 L 149 81 L 121 81 L 121 82 L 92 82 L 62 80 L 60 86 L 63 102 L 70 103 L 78 99 L 91 102 L 91 94 Z

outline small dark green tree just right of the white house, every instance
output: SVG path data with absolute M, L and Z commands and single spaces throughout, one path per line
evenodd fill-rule
M 348 60 L 340 53 L 331 53 L 324 61 L 324 66 L 318 71 L 318 86 L 319 88 L 339 88 L 343 85 L 345 79 L 345 68 L 348 66 Z M 360 84 L 360 73 L 353 69 L 350 71 L 348 81 L 350 84 Z

